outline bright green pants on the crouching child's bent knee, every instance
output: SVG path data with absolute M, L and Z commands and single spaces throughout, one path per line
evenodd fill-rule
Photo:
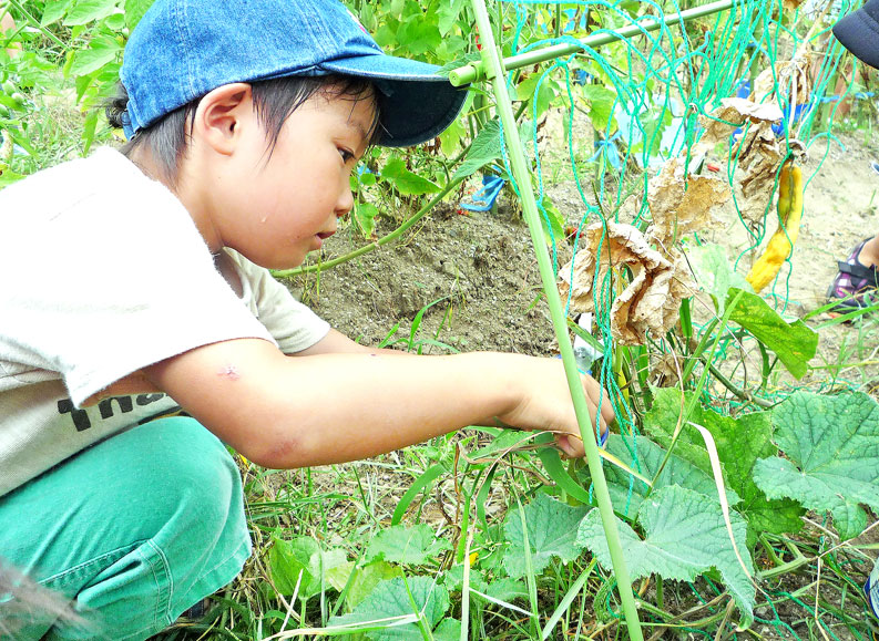
M 12 622 L 16 639 L 146 639 L 249 554 L 238 469 L 193 418 L 134 427 L 0 497 L 0 557 L 74 600 L 89 624 L 34 613 Z

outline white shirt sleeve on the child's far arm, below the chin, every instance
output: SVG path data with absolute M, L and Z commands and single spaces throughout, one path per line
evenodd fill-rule
M 295 354 L 320 341 L 329 323 L 294 298 L 272 273 L 239 254 L 229 251 L 243 280 L 252 290 L 252 311 L 285 354 Z

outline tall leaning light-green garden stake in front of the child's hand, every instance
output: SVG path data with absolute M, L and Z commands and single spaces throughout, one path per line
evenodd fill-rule
M 576 413 L 578 423 L 580 424 L 580 434 L 586 451 L 586 459 L 595 488 L 595 497 L 599 503 L 599 509 L 601 510 L 604 533 L 607 537 L 607 546 L 613 561 L 613 569 L 616 575 L 617 586 L 620 586 L 620 599 L 623 603 L 626 626 L 628 627 L 628 635 L 633 641 L 642 641 L 644 637 L 641 632 L 641 622 L 638 621 L 635 599 L 632 595 L 632 581 L 628 578 L 628 570 L 623 559 L 623 549 L 620 545 L 620 537 L 616 531 L 616 520 L 613 515 L 611 496 L 607 493 L 607 483 L 601 466 L 599 446 L 595 443 L 586 397 L 583 393 L 583 385 L 580 382 L 580 372 L 578 372 L 576 362 L 574 361 L 574 350 L 568 337 L 568 323 L 565 321 L 564 309 L 559 298 L 559 292 L 555 289 L 555 275 L 553 273 L 552 263 L 550 262 L 550 256 L 543 244 L 543 229 L 534 199 L 534 192 L 531 187 L 531 174 L 525 163 L 522 142 L 519 138 L 519 132 L 515 125 L 515 115 L 513 114 L 510 95 L 507 91 L 505 71 L 501 62 L 500 50 L 494 41 L 494 34 L 491 30 L 491 20 L 489 19 L 484 0 L 472 0 L 472 7 L 477 18 L 479 37 L 482 41 L 482 63 L 487 70 L 487 77 L 491 80 L 498 114 L 503 123 L 513 178 L 520 186 L 519 195 L 522 200 L 523 216 L 531 232 L 531 241 L 534 246 L 538 267 L 540 269 L 541 280 L 543 281 L 543 290 L 546 294 L 552 323 L 559 340 L 559 348 L 568 376 L 568 385 L 571 389 L 574 412 Z

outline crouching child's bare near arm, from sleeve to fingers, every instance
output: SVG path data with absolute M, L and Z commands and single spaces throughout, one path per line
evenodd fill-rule
M 571 456 L 583 444 L 558 359 L 479 352 L 395 358 L 285 356 L 241 339 L 197 348 L 146 378 L 247 458 L 289 468 L 356 461 L 495 420 L 550 430 Z M 595 415 L 597 383 L 583 378 Z M 604 425 L 613 418 L 606 396 Z

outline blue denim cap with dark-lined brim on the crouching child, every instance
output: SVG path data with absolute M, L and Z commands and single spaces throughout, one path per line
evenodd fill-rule
M 379 144 L 436 137 L 467 89 L 439 68 L 386 55 L 338 0 L 156 0 L 125 46 L 125 135 L 235 82 L 344 74 L 377 89 Z

